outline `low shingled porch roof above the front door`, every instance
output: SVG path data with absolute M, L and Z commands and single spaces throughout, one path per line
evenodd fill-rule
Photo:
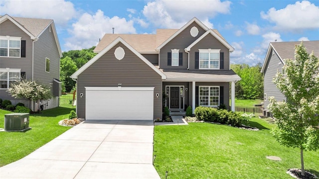
M 165 75 L 165 81 L 239 81 L 241 78 L 233 70 L 187 70 L 160 69 Z

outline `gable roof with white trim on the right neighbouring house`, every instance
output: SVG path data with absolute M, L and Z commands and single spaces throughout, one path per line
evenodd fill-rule
M 283 64 L 285 64 L 284 59 L 294 59 L 295 58 L 295 45 L 300 44 L 301 41 L 293 41 L 293 42 L 270 42 L 266 57 L 264 60 L 264 64 L 262 66 L 261 72 L 265 71 L 267 62 L 269 60 L 269 56 L 271 51 L 274 49 L 279 59 Z M 314 41 L 303 41 L 304 46 L 307 48 L 308 53 L 312 53 L 314 51 L 315 56 L 319 56 L 319 40 Z

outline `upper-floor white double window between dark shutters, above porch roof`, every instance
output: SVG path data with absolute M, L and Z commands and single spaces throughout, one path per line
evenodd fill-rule
M 199 49 L 199 69 L 219 69 L 219 52 L 215 49 Z

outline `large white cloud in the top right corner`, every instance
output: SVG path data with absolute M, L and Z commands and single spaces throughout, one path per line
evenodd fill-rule
M 319 6 L 308 0 L 288 4 L 277 10 L 272 7 L 267 13 L 261 11 L 261 17 L 276 24 L 275 28 L 289 31 L 319 28 Z

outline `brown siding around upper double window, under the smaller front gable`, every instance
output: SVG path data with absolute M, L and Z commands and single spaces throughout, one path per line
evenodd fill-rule
M 223 45 L 217 38 L 211 34 L 207 34 L 197 44 L 195 44 L 189 52 L 189 69 L 195 69 L 195 52 L 198 49 L 220 49 L 220 52 L 224 52 L 224 69 L 229 70 L 229 49 Z

